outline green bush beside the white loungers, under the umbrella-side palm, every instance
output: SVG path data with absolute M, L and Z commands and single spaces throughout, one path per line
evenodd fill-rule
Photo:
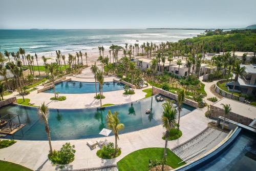
M 108 145 L 104 145 L 101 149 L 99 149 L 96 155 L 102 159 L 116 158 L 121 155 L 121 148 L 117 148 L 116 156 L 114 156 L 114 153 L 115 153 L 114 143 L 111 142 Z

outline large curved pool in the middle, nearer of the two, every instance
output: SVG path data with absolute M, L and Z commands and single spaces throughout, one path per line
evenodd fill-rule
M 120 122 L 125 125 L 120 134 L 160 125 L 163 102 L 157 102 L 156 97 L 133 102 L 133 105 L 128 103 L 105 108 L 50 109 L 51 138 L 52 140 L 73 140 L 102 137 L 99 132 L 102 128 L 106 128 L 105 118 L 108 110 L 119 112 Z M 146 115 L 145 110 L 150 109 L 151 104 L 153 108 L 152 114 Z M 181 116 L 194 109 L 194 107 L 184 104 Z M 44 121 L 39 118 L 37 108 L 7 105 L 0 109 L 0 113 L 0 116 L 7 113 L 17 113 L 20 121 L 27 124 L 23 129 L 17 131 L 15 135 L 7 136 L 6 138 L 47 140 Z

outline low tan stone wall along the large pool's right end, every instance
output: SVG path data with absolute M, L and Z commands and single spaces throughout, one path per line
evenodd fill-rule
M 174 93 L 169 92 L 169 91 L 165 91 L 165 90 L 163 90 L 161 88 L 153 87 L 153 94 L 154 95 L 155 94 L 163 94 L 166 97 L 169 97 L 169 98 L 172 98 L 174 100 L 177 100 L 177 94 L 174 94 Z M 189 105 L 189 106 L 193 106 L 193 107 L 198 108 L 198 103 L 193 101 L 193 100 L 185 99 L 184 103 Z

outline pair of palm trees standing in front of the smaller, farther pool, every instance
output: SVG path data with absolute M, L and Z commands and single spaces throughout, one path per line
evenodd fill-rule
M 98 68 L 98 66 L 96 65 L 96 62 L 94 63 L 94 65 L 91 66 L 91 70 L 94 73 L 94 79 L 95 79 L 95 93 L 96 93 L 95 98 L 97 98 L 97 95 L 98 95 L 97 94 L 97 81 L 98 81 L 100 106 L 102 106 L 101 99 L 103 97 L 103 84 L 104 84 L 103 71 Z

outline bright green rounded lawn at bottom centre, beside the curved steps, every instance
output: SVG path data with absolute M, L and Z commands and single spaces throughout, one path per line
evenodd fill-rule
M 119 162 L 117 162 L 118 170 L 140 170 L 140 171 L 148 171 L 148 160 L 161 160 L 163 157 L 164 148 L 144 148 L 134 151 L 129 155 L 122 158 Z M 176 156 L 170 149 L 167 148 L 167 161 L 166 164 L 177 168 L 185 164 L 185 162 L 178 164 L 182 160 Z

